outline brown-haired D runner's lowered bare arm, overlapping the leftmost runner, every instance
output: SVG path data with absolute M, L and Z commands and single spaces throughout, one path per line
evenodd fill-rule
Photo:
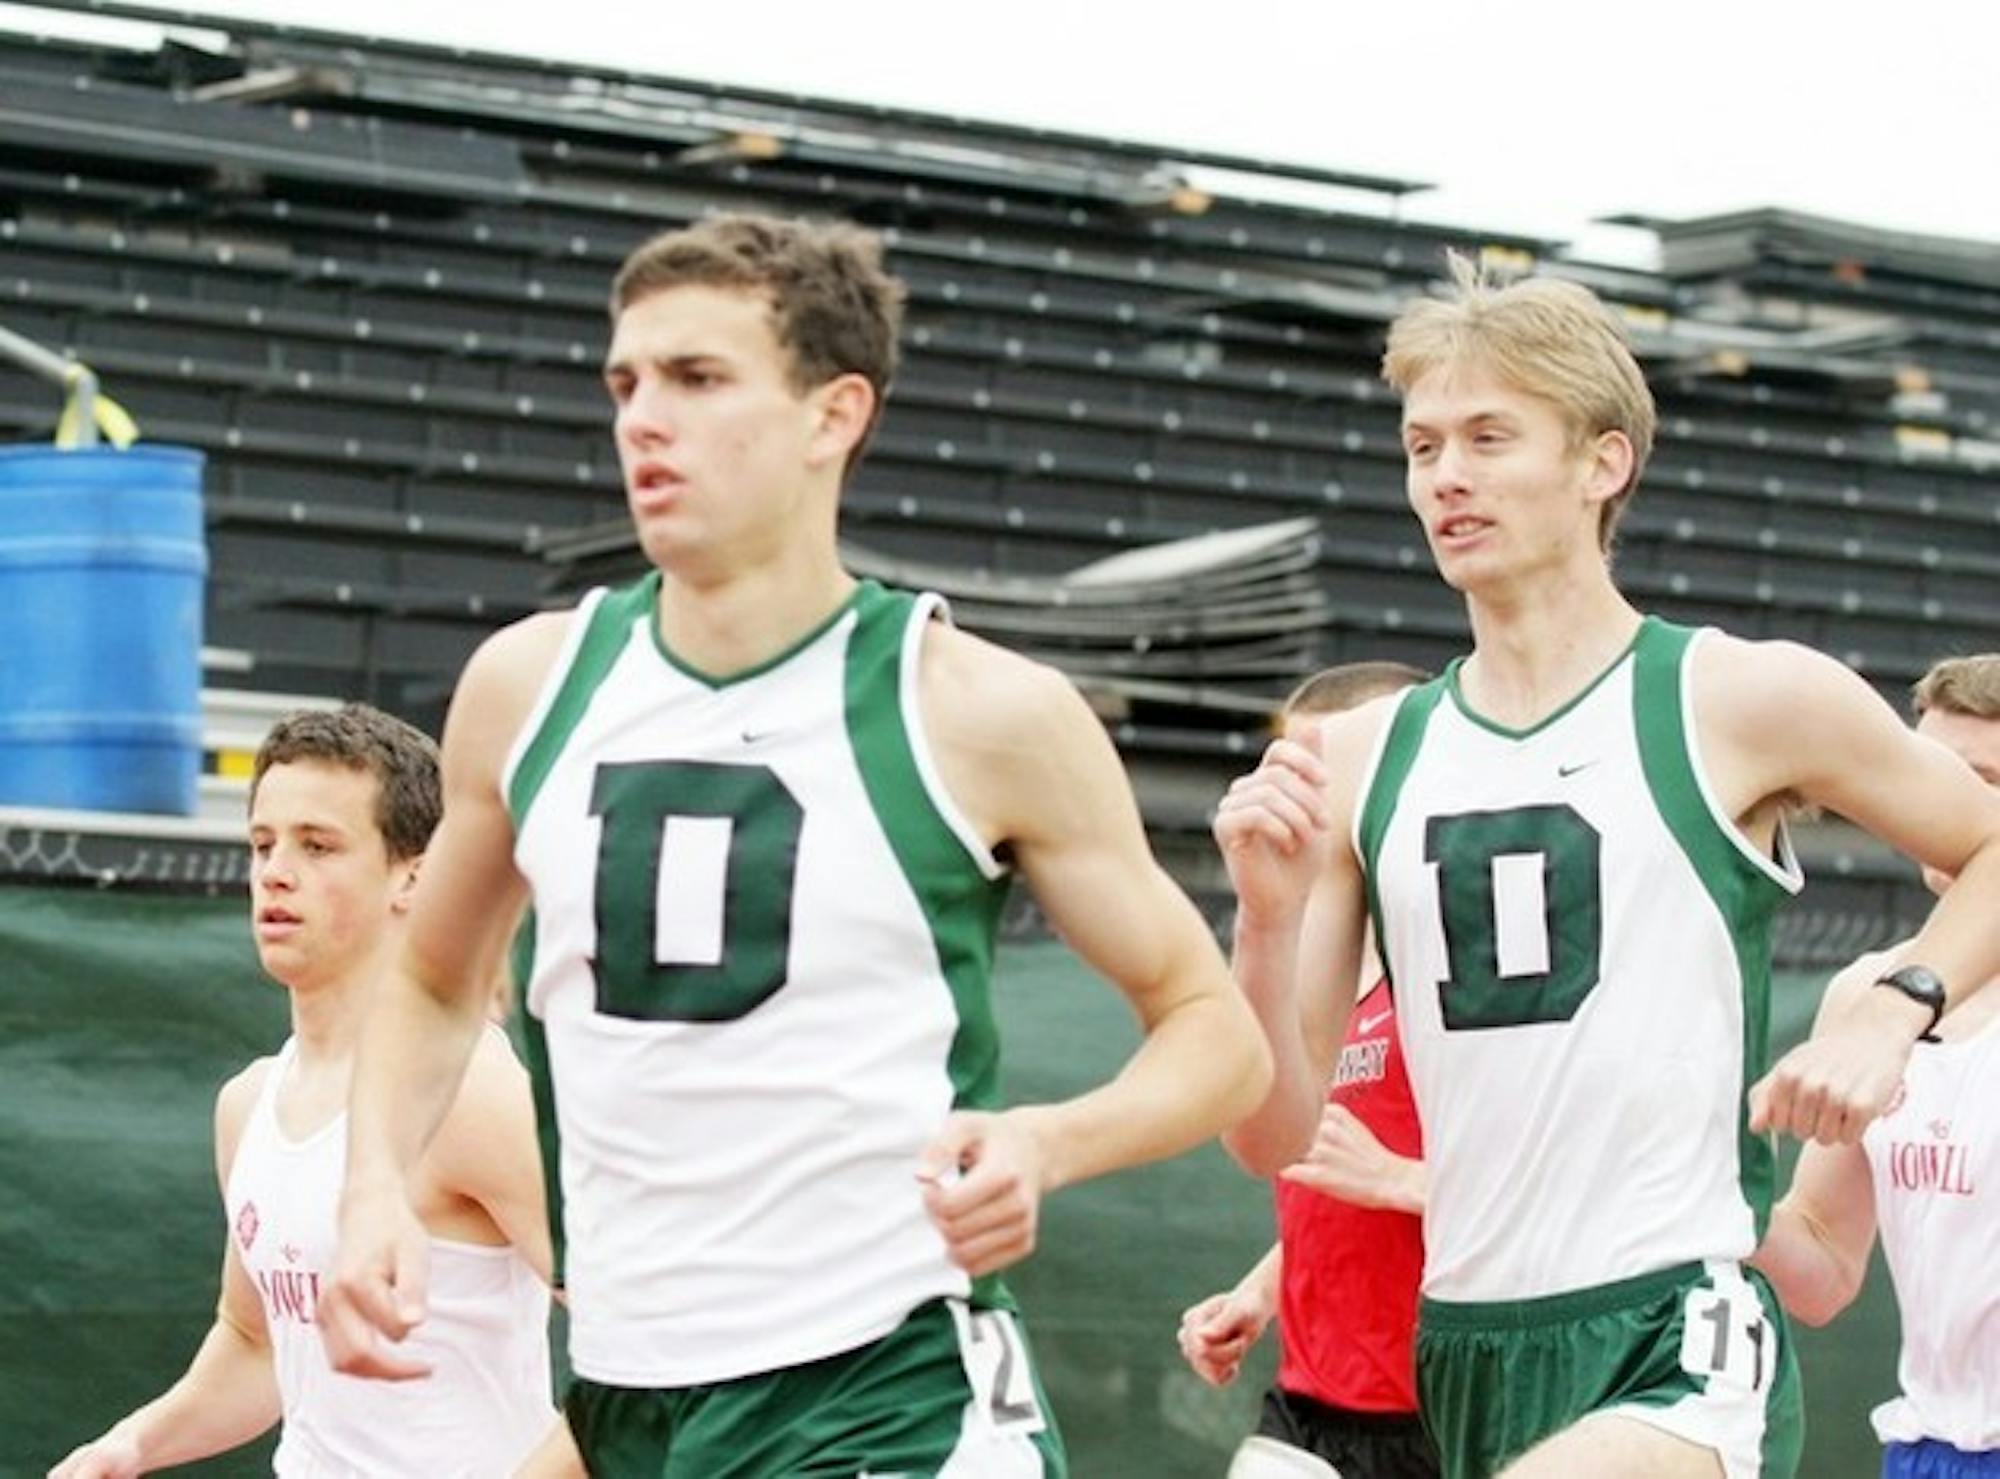
M 424 1317 L 426 1239 L 410 1173 L 458 1093 L 526 885 L 500 791 L 508 749 L 570 616 L 498 632 L 472 656 L 444 726 L 444 819 L 424 853 L 398 965 L 362 1025 L 348 1105 L 340 1255 L 320 1303 L 336 1369 L 410 1379 L 400 1341 Z

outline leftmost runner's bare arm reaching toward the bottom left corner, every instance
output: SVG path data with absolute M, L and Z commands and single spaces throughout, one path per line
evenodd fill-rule
M 228 1189 L 244 1121 L 256 1103 L 260 1069 L 238 1073 L 216 1095 L 216 1179 Z M 226 1453 L 268 1431 L 282 1407 L 264 1331 L 264 1305 L 236 1245 L 222 1245 L 216 1323 L 180 1379 L 50 1469 L 52 1479 L 124 1479 Z

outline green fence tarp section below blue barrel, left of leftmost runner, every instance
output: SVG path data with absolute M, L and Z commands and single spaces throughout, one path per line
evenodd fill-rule
M 240 897 L 0 887 L 0 1473 L 160 1393 L 222 1267 L 216 1089 L 286 1031 Z M 200 1469 L 270 1473 L 270 1445 Z

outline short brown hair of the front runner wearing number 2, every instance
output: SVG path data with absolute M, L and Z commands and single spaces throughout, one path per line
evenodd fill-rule
M 770 298 L 772 332 L 790 358 L 792 388 L 858 374 L 874 416 L 848 458 L 860 460 L 896 378 L 902 284 L 882 266 L 882 238 L 848 222 L 710 216 L 654 236 L 612 278 L 612 320 L 668 288 L 734 288 Z

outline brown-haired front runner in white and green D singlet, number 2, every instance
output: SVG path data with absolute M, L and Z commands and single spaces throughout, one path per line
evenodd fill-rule
M 478 1023 L 462 951 L 530 905 L 564 1407 L 596 1473 L 1062 1473 L 994 1275 L 1046 1191 L 1208 1139 L 1268 1083 L 1076 690 L 840 564 L 900 298 L 838 224 L 718 216 L 626 260 L 604 384 L 652 572 L 468 662 L 360 1053 L 324 1323 L 340 1369 L 394 1373 L 424 1259 L 402 1181 Z M 1010 1109 L 1012 875 L 1144 1041 Z

